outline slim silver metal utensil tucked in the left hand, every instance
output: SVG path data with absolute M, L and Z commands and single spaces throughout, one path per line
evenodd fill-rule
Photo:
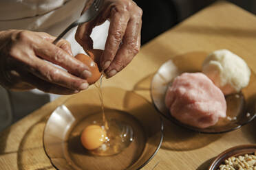
M 76 27 L 77 25 L 81 25 L 82 23 L 86 23 L 89 21 L 92 21 L 98 13 L 100 12 L 100 7 L 103 3 L 103 0 L 94 0 L 92 5 L 88 8 L 88 10 L 83 13 L 83 15 L 80 16 L 79 19 L 74 21 L 74 23 L 70 24 L 55 40 L 52 42 L 54 45 L 60 40 L 70 29 L 73 27 Z

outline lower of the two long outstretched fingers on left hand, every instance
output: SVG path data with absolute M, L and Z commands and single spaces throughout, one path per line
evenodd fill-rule
M 49 64 L 40 58 L 35 57 L 33 60 L 33 64 L 26 69 L 46 82 L 73 90 L 85 90 L 89 86 L 85 80 L 67 73 L 67 71 L 58 69 L 56 66 Z

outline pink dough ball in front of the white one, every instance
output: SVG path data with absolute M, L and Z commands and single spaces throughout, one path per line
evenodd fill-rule
M 194 127 L 215 125 L 226 117 L 226 100 L 222 90 L 203 73 L 182 73 L 169 86 L 165 104 L 178 121 Z

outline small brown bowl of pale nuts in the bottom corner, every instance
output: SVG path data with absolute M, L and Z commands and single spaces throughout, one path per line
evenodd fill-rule
M 209 170 L 256 170 L 256 145 L 239 145 L 223 151 Z

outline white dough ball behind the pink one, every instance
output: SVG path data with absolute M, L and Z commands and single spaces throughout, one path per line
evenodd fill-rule
M 246 62 L 227 49 L 213 51 L 204 60 L 202 72 L 218 86 L 224 95 L 238 93 L 250 82 Z

